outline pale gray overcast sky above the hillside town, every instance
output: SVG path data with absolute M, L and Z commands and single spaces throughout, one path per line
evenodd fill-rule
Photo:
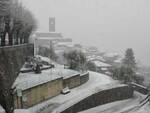
M 20 0 L 48 31 L 48 17 L 67 38 L 100 50 L 123 53 L 150 66 L 150 0 Z

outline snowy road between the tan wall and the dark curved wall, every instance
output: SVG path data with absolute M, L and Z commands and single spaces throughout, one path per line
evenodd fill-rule
M 43 103 L 26 109 L 25 113 L 59 113 L 60 111 L 69 108 L 93 93 L 112 86 L 115 87 L 115 85 L 118 85 L 118 81 L 113 80 L 107 75 L 90 71 L 89 81 L 87 83 L 72 89 L 71 93 L 66 95 L 60 94 Z M 22 110 L 21 112 L 23 113 Z M 15 113 L 19 113 L 19 111 L 15 110 Z

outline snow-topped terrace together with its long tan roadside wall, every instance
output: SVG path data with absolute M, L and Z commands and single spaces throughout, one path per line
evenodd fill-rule
M 65 87 L 74 88 L 88 81 L 88 73 L 63 68 L 43 70 L 41 73 L 20 73 L 14 82 L 14 105 L 16 109 L 28 108 L 57 96 Z

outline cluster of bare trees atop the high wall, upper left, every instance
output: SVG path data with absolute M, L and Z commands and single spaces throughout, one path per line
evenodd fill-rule
M 1 45 L 5 46 L 5 36 L 9 36 L 9 45 L 28 43 L 32 31 L 36 28 L 33 15 L 17 0 L 0 0 Z M 20 39 L 20 42 L 19 42 Z

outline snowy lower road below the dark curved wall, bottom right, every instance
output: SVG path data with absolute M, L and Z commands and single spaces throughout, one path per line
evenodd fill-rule
M 139 102 L 143 98 L 145 96 L 135 92 L 134 98 L 108 103 L 79 113 L 150 113 L 150 105 L 140 107 Z

